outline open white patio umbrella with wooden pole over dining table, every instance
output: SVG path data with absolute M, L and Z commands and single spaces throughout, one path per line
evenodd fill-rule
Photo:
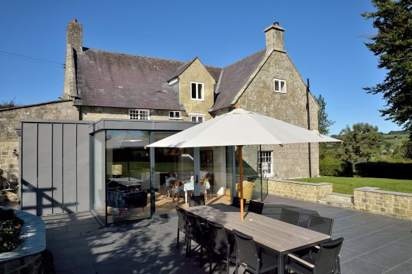
M 341 142 L 281 120 L 262 116 L 243 108 L 217 116 L 171 135 L 147 147 L 218 147 L 238 146 L 240 164 L 241 219 L 243 220 L 242 147 L 253 144 L 297 144 L 308 142 Z

